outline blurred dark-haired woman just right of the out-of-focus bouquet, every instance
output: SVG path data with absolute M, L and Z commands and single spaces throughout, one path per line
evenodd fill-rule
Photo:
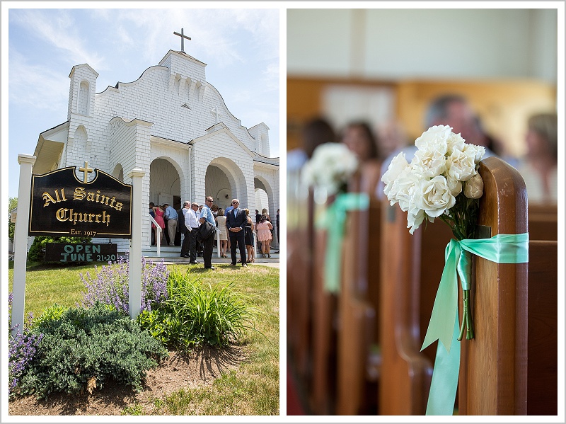
M 342 134 L 342 143 L 352 151 L 359 161 L 362 174 L 362 193 L 375 193 L 381 178 L 378 144 L 374 133 L 366 122 L 354 121 L 348 124 Z

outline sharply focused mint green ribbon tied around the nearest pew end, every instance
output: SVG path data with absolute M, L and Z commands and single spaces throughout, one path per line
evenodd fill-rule
M 422 348 L 439 340 L 430 385 L 427 415 L 452 415 L 460 369 L 458 340 L 458 278 L 462 290 L 470 289 L 470 275 L 465 272 L 473 253 L 495 263 L 529 262 L 529 233 L 497 234 L 491 239 L 452 239 L 446 246 L 444 270 L 434 299 L 432 315 Z M 441 344 L 444 348 L 441 348 Z

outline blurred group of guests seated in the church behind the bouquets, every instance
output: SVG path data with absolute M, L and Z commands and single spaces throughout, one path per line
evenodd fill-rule
M 458 94 L 446 94 L 432 99 L 424 113 L 423 128 L 434 125 L 449 125 L 453 132 L 460 133 L 470 144 L 485 147 L 484 159 L 497 156 L 514 166 L 523 176 L 529 202 L 558 201 L 558 115 L 537 113 L 526 122 L 524 144 L 526 154 L 514 157 L 504 149 L 497 138 L 485 130 L 480 115 L 470 102 Z M 341 130 L 324 118 L 315 118 L 304 125 L 301 132 L 301 147 L 287 154 L 287 171 L 299 171 L 319 144 L 342 142 L 359 160 L 362 174 L 362 191 L 383 199 L 381 177 L 388 169 L 391 159 L 401 151 L 411 161 L 416 147 L 399 122 L 388 122 L 372 127 L 369 122 L 355 120 Z

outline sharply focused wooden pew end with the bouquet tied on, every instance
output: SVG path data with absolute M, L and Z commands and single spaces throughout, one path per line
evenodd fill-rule
M 478 224 L 489 227 L 490 236 L 526 232 L 523 178 L 495 157 L 481 161 L 479 172 L 484 194 Z M 475 258 L 471 285 L 475 338 L 461 342 L 460 415 L 526 414 L 527 284 L 528 264 Z

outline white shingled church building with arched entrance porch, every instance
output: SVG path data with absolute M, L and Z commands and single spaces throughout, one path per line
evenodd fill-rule
M 74 66 L 67 121 L 40 134 L 33 173 L 78 169 L 88 161 L 88 168 L 132 183 L 127 176 L 139 168 L 145 173 L 143 205 L 132 208 L 149 211 L 154 202 L 180 209 L 185 200 L 202 204 L 211 195 L 225 209 L 237 197 L 253 218 L 255 209 L 267 207 L 275 225 L 279 158 L 270 157 L 269 127 L 264 122 L 243 127 L 207 82 L 206 66 L 170 50 L 136 81 L 118 82 L 100 93 L 98 72 L 88 64 Z M 88 181 L 94 176 L 89 173 Z M 143 220 L 146 250 L 151 244 L 149 213 Z M 129 248 L 128 240 L 112 243 L 118 243 L 119 251 Z

